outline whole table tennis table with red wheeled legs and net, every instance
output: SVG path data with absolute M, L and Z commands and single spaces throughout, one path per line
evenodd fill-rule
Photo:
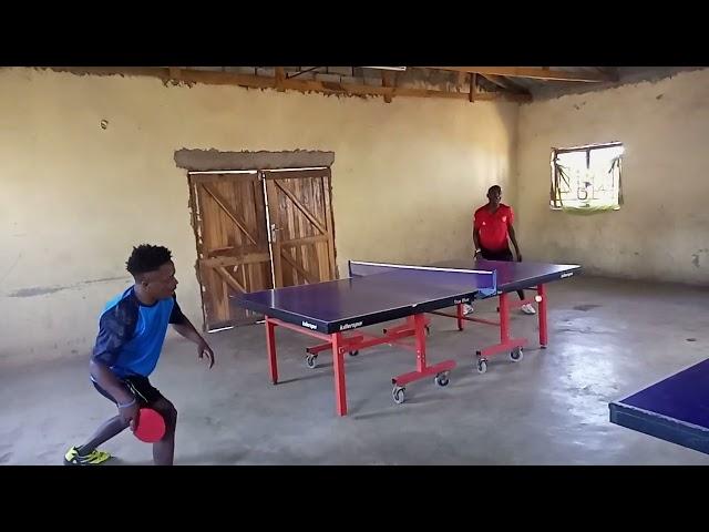
M 322 341 L 307 349 L 306 362 L 310 368 L 316 367 L 319 352 L 331 350 L 339 416 L 347 415 L 346 352 L 354 356 L 364 348 L 382 344 L 397 345 L 415 352 L 415 370 L 392 378 L 392 397 L 397 403 L 404 401 L 408 383 L 434 377 L 438 386 L 446 386 L 450 372 L 455 368 L 454 360 L 432 366 L 427 364 L 427 313 L 455 318 L 460 329 L 465 320 L 500 326 L 500 344 L 477 351 L 479 371 L 484 372 L 486 357 L 496 352 L 507 351 L 513 360 L 520 360 L 526 339 L 510 338 L 508 310 L 514 304 L 507 301 L 507 294 L 518 289 L 537 291 L 534 299 L 516 305 L 537 304 L 540 344 L 545 347 L 547 301 L 544 284 L 571 277 L 579 272 L 580 266 L 482 259 L 449 260 L 427 266 L 350 260 L 348 269 L 349 277 L 345 279 L 240 294 L 237 297 L 239 306 L 265 316 L 268 365 L 274 383 L 278 382 L 276 327 Z M 463 316 L 464 304 L 490 297 L 500 298 L 500 321 Z M 441 309 L 449 307 L 455 307 L 456 314 L 441 313 Z M 384 329 L 382 336 L 356 330 L 398 319 L 404 323 Z M 413 344 L 403 341 L 411 338 Z

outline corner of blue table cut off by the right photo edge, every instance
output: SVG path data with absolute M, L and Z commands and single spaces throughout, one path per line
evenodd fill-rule
M 608 408 L 613 423 L 709 454 L 709 359 Z

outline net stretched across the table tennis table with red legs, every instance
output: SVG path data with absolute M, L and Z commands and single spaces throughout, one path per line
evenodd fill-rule
M 477 288 L 484 295 L 493 295 L 497 288 L 497 274 L 495 270 L 441 268 L 434 266 L 350 260 L 349 273 L 350 277 L 366 277 L 369 275 L 401 275 L 407 277 L 420 277 L 422 283 L 462 283 L 470 285 L 471 288 Z

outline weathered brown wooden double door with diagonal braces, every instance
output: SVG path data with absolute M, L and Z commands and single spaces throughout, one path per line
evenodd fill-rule
M 239 293 L 337 277 L 330 168 L 189 174 L 205 328 L 260 319 Z

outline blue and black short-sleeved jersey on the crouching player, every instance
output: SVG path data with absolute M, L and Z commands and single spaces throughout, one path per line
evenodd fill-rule
M 143 305 L 132 286 L 109 301 L 101 314 L 93 359 L 119 378 L 147 377 L 157 365 L 167 325 L 185 319 L 175 297 Z

